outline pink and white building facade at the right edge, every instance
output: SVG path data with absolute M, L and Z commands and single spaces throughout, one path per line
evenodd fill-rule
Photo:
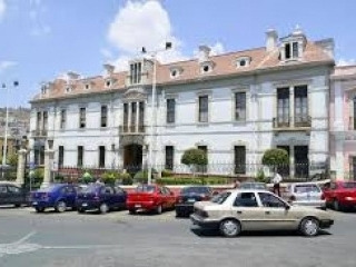
M 356 179 L 356 66 L 336 67 L 330 91 L 330 165 L 337 179 Z

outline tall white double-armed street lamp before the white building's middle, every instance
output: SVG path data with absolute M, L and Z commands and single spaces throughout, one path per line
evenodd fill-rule
M 149 53 L 152 58 L 152 65 L 154 65 L 154 73 L 152 73 L 152 101 L 151 101 L 151 125 L 150 125 L 150 144 L 148 147 L 148 180 L 147 184 L 150 185 L 151 184 L 151 176 L 152 176 L 152 149 L 154 149 L 154 131 L 155 130 L 155 126 L 156 126 L 156 83 L 157 83 L 157 65 L 156 65 L 156 58 L 157 58 L 157 53 L 166 51 L 171 49 L 171 42 L 166 42 L 166 47 L 165 49 L 159 49 L 159 50 L 155 50 L 155 51 L 149 51 L 147 52 L 146 48 L 142 47 L 141 52 L 142 53 Z

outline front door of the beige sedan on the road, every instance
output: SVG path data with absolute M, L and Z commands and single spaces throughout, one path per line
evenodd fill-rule
M 289 211 L 289 205 L 271 192 L 258 192 L 263 217 L 261 230 L 295 229 L 297 217 Z

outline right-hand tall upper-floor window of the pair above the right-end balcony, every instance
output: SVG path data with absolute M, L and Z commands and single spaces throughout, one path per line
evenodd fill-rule
M 295 98 L 295 125 L 308 126 L 308 90 L 307 86 L 297 86 L 294 88 Z

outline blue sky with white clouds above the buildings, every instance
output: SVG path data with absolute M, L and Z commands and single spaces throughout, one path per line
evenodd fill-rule
M 299 24 L 308 39 L 335 39 L 336 61 L 355 63 L 356 1 L 334 0 L 0 0 L 0 83 L 10 106 L 28 106 L 49 81 L 72 70 L 83 77 L 117 69 L 141 46 L 175 49 L 164 62 L 194 57 L 199 44 L 215 53 L 265 46 L 265 31 L 279 37 Z M 0 107 L 4 107 L 0 87 Z

